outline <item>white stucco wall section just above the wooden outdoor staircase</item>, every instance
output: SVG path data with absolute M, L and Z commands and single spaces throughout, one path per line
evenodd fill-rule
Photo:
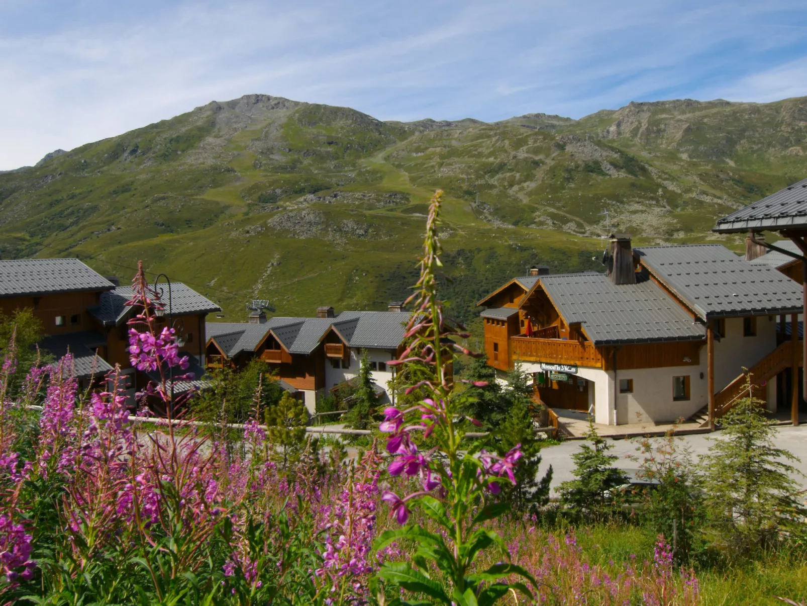
M 714 388 L 720 391 L 742 373 L 776 349 L 776 316 L 758 316 L 757 334 L 742 335 L 742 318 L 725 318 L 725 337 L 714 343 Z M 700 353 L 705 363 L 706 349 Z

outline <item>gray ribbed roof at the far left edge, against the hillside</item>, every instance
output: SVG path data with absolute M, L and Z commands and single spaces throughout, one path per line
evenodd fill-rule
M 23 297 L 115 288 L 78 259 L 0 261 L 0 297 Z

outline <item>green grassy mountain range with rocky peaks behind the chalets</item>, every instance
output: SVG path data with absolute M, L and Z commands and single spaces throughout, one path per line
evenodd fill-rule
M 709 229 L 807 174 L 805 129 L 807 98 L 487 124 L 245 95 L 0 174 L 0 256 L 77 256 L 124 279 L 144 259 L 231 319 L 253 298 L 278 314 L 383 309 L 415 280 L 441 187 L 445 293 L 473 318 L 531 263 L 601 267 L 608 231 L 737 247 Z

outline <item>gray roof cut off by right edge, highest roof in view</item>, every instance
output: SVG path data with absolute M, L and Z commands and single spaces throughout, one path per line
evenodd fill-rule
M 799 228 L 807 228 L 807 179 L 718 219 L 713 231 L 732 234 Z

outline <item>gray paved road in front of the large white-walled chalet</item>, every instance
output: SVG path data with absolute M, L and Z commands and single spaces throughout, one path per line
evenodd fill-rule
M 713 444 L 714 440 L 721 439 L 721 431 L 713 434 L 696 434 L 693 436 L 681 436 L 682 441 L 678 442 L 679 445 L 686 445 L 692 452 L 693 461 L 698 461 L 700 457 L 709 456 L 709 446 Z M 663 440 L 663 438 L 651 438 L 655 442 Z M 608 443 L 613 444 L 611 453 L 617 455 L 618 461 L 615 465 L 621 469 L 635 470 L 638 469 L 642 457 L 639 461 L 631 461 L 628 457 L 631 455 L 639 455 L 636 450 L 638 448 L 638 440 L 608 440 Z M 546 469 L 552 465 L 552 496 L 556 495 L 555 487 L 559 486 L 561 482 L 574 479 L 572 469 L 575 469 L 575 461 L 572 461 L 571 455 L 579 451 L 580 446 L 584 444 L 583 440 L 570 440 L 563 442 L 557 446 L 550 446 L 541 451 L 541 466 L 538 469 L 538 477 L 543 477 Z M 801 459 L 801 462 L 793 463 L 793 467 L 807 475 L 807 425 L 799 427 L 779 427 L 777 429 L 776 446 L 789 450 L 794 455 Z M 801 485 L 807 488 L 807 478 L 797 478 Z

